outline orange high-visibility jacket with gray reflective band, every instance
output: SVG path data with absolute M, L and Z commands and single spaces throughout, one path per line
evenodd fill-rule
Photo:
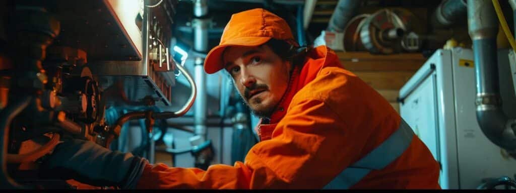
M 137 188 L 440 188 L 428 148 L 326 46 L 294 70 L 276 109 L 244 163 L 147 165 Z

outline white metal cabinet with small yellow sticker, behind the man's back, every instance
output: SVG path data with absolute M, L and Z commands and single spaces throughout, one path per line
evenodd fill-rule
M 516 115 L 508 50 L 498 51 L 504 111 Z M 437 50 L 399 92 L 400 114 L 441 164 L 443 189 L 475 189 L 516 174 L 516 160 L 482 133 L 475 112 L 473 51 Z

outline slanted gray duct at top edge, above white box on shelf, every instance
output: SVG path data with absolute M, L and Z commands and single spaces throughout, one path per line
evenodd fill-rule
M 356 14 L 359 5 L 360 1 L 358 0 L 338 0 L 326 30 L 336 32 L 344 31 L 348 21 Z

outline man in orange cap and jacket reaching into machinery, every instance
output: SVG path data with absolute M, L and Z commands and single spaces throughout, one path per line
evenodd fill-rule
M 234 14 L 204 69 L 225 69 L 263 117 L 261 142 L 244 163 L 206 171 L 150 165 L 75 139 L 45 168 L 122 188 L 440 188 L 439 164 L 390 104 L 328 47 L 300 48 L 277 15 Z

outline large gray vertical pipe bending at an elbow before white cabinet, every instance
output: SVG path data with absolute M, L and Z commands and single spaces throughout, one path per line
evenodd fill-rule
M 502 110 L 496 49 L 498 20 L 490 0 L 467 1 L 467 26 L 473 41 L 478 124 L 491 142 L 514 151 L 516 121 Z

